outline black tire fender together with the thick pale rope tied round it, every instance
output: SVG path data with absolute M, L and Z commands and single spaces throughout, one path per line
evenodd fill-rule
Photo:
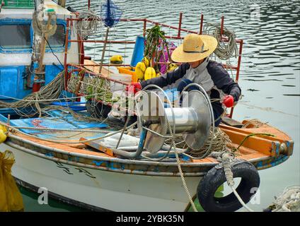
M 246 203 L 252 198 L 251 189 L 257 188 L 260 184 L 257 169 L 246 160 L 236 159 L 234 153 L 229 150 L 221 153 L 212 152 L 209 157 L 214 157 L 220 164 L 210 169 L 198 185 L 197 196 L 204 210 L 235 211 L 243 206 L 253 212 Z M 241 182 L 236 189 L 233 187 L 234 177 L 241 177 Z M 215 192 L 224 182 L 227 182 L 233 193 L 222 198 L 214 197 Z

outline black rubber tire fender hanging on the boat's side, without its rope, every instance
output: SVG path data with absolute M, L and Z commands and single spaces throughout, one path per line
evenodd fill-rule
M 231 163 L 233 178 L 241 177 L 236 191 L 244 203 L 248 203 L 260 186 L 258 170 L 246 160 L 236 160 Z M 197 187 L 197 197 L 202 208 L 207 212 L 232 212 L 242 207 L 238 198 L 231 194 L 217 198 L 214 196 L 221 184 L 226 182 L 224 168 L 217 165 L 205 174 Z

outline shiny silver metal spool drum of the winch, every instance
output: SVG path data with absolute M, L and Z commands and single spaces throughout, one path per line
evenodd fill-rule
M 156 92 L 148 90 L 139 93 L 138 126 L 140 131 L 147 131 L 144 149 L 150 153 L 161 150 L 166 138 L 171 138 L 170 131 L 182 133 L 185 143 L 193 150 L 199 150 L 207 141 L 213 117 L 210 102 L 199 90 L 183 94 L 183 107 L 169 105 L 165 108 L 162 98 Z

